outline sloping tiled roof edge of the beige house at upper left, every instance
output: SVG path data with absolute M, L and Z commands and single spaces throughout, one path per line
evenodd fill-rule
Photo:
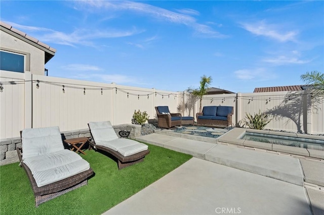
M 22 32 L 16 28 L 13 28 L 11 25 L 9 25 L 7 23 L 0 21 L 0 29 L 12 36 L 15 36 L 15 37 L 33 45 L 33 46 L 39 48 L 39 49 L 44 50 L 45 51 L 45 64 L 49 60 L 51 60 L 51 58 L 53 58 L 55 55 L 55 52 L 56 52 L 55 48 L 39 41 L 38 39 L 36 39 L 34 37 L 27 35 L 26 33 Z

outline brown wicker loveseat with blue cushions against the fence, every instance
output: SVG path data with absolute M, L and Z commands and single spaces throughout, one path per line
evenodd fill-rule
M 204 106 L 202 113 L 197 113 L 197 125 L 228 127 L 232 125 L 232 106 Z

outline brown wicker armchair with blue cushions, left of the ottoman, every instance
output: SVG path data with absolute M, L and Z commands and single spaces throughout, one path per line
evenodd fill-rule
M 181 114 L 171 114 L 168 106 L 156 106 L 157 126 L 161 128 L 171 128 L 181 126 Z

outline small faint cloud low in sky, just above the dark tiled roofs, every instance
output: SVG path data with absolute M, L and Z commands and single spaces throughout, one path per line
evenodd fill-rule
M 234 75 L 240 80 L 250 81 L 266 81 L 275 78 L 275 74 L 264 68 L 236 70 Z

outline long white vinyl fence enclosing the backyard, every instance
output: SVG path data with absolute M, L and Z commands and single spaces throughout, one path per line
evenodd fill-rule
M 38 82 L 37 82 L 38 80 Z M 24 128 L 59 126 L 61 131 L 88 128 L 90 121 L 131 123 L 134 111 L 156 117 L 154 106 L 167 105 L 171 113 L 194 116 L 199 101 L 186 91 L 130 87 L 55 78 L 31 73 L 0 71 L 0 139 L 19 137 Z M 64 86 L 64 87 L 63 87 Z M 64 89 L 64 90 L 63 90 Z M 233 106 L 232 125 L 239 126 L 245 113 L 269 115 L 267 129 L 324 133 L 324 104 L 307 91 L 206 95 L 201 106 Z

